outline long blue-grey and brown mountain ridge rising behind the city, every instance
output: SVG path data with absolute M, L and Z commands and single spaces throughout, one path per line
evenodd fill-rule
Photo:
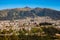
M 60 20 L 60 11 L 48 8 L 15 8 L 0 10 L 0 20 L 23 19 L 26 17 L 50 17 L 55 20 Z

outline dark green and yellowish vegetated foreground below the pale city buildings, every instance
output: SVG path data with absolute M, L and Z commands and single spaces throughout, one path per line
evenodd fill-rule
M 0 40 L 60 40 L 59 34 L 60 30 L 57 30 L 53 26 L 45 27 L 33 27 L 31 30 L 0 30 Z

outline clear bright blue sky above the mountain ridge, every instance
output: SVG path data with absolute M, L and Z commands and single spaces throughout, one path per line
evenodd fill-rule
M 50 8 L 60 11 L 60 0 L 0 0 L 0 10 L 24 7 Z

